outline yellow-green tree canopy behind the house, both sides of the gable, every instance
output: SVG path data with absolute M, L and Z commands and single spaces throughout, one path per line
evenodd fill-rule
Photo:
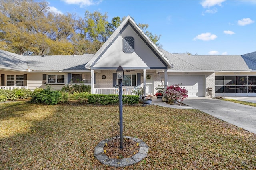
M 21 55 L 82 55 L 96 53 L 124 18 L 108 22 L 107 13 L 86 11 L 84 18 L 76 14 L 56 14 L 48 2 L 8 0 L 0 3 L 0 49 Z M 158 47 L 161 35 L 139 24 Z

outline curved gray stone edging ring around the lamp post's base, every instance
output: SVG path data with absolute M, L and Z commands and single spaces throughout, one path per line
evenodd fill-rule
M 94 156 L 100 163 L 104 165 L 114 166 L 114 167 L 125 167 L 136 164 L 140 162 L 143 158 L 148 155 L 148 145 L 143 142 L 143 140 L 138 138 L 132 138 L 130 136 L 124 136 L 124 138 L 132 139 L 134 142 L 139 143 L 140 150 L 137 154 L 130 158 L 122 158 L 122 159 L 114 159 L 109 158 L 106 154 L 104 154 L 104 146 L 105 143 L 108 143 L 110 139 L 102 140 L 94 149 Z

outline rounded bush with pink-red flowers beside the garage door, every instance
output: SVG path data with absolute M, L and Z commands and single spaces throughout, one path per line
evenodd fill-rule
M 166 102 L 175 103 L 175 101 L 186 99 L 188 97 L 188 91 L 179 85 L 170 85 L 167 86 L 164 97 L 166 98 Z

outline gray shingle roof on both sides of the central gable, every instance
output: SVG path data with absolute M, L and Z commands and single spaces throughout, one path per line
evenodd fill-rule
M 187 55 L 160 50 L 174 65 L 170 71 L 256 70 L 256 52 L 244 55 Z M 22 56 L 0 50 L 0 68 L 19 71 L 86 71 L 84 66 L 93 56 L 94 54 Z

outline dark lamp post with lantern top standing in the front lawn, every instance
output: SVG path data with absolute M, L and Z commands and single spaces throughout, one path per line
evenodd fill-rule
M 124 79 L 124 70 L 119 63 L 119 66 L 116 70 L 117 79 L 118 79 L 118 88 L 119 88 L 119 129 L 120 129 L 120 149 L 124 148 L 124 138 L 123 138 L 123 90 L 122 90 L 122 79 Z

